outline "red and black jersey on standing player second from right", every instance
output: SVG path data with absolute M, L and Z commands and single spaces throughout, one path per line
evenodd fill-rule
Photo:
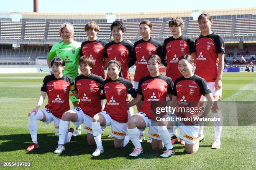
M 166 76 L 175 81 L 182 74 L 178 69 L 178 60 L 182 55 L 195 52 L 194 41 L 185 35 L 175 39 L 173 36 L 164 40 L 163 54 L 167 57 Z

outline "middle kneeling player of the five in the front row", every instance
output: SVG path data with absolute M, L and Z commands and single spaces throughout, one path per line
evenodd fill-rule
M 129 138 L 126 135 L 128 114 L 126 98 L 128 93 L 136 96 L 133 85 L 129 80 L 122 77 L 122 65 L 117 60 L 108 62 L 109 79 L 104 81 L 104 94 L 107 99 L 105 109 L 93 117 L 92 133 L 97 148 L 92 156 L 99 156 L 104 152 L 101 133 L 102 127 L 111 125 L 111 135 L 115 137 L 115 148 L 125 147 Z

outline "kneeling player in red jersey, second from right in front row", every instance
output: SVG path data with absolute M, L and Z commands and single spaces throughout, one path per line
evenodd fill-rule
M 128 120 L 127 133 L 131 139 L 134 150 L 130 156 L 138 156 L 143 153 L 141 143 L 139 141 L 138 130 L 145 130 L 149 127 L 148 136 L 152 138 L 152 149 L 160 150 L 164 147 L 161 139 L 159 138 L 157 126 L 151 125 L 151 101 L 166 101 L 167 95 L 171 97 L 172 92 L 172 79 L 163 76 L 159 73 L 161 67 L 161 59 L 158 55 L 151 55 L 148 58 L 147 68 L 150 75 L 141 78 L 138 84 L 137 97 L 127 104 L 127 107 L 136 105 L 143 100 L 142 107 L 138 113 L 131 116 Z

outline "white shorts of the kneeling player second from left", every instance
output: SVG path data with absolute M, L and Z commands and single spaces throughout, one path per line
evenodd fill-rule
M 77 113 L 77 121 L 73 122 L 75 126 L 83 125 L 83 131 L 92 134 L 92 117 L 84 114 L 80 107 L 75 107 L 72 109 Z

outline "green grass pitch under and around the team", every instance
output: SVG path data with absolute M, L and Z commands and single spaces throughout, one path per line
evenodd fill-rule
M 38 122 L 40 148 L 27 153 L 31 143 L 28 132 L 28 111 L 36 106 L 41 82 L 46 74 L 0 74 L 0 162 L 31 161 L 33 169 L 255 169 L 255 126 L 224 126 L 222 146 L 212 150 L 214 128 L 205 126 L 205 142 L 195 154 L 185 154 L 184 147 L 175 144 L 176 154 L 159 158 L 162 151 L 152 151 L 143 142 L 144 154 L 130 158 L 133 145 L 115 149 L 113 139 L 108 139 L 110 128 L 104 132 L 104 154 L 93 158 L 95 146 L 88 146 L 87 134 L 73 137 L 61 155 L 54 155 L 58 137 L 53 124 Z M 131 75 L 133 77 L 133 74 Z M 224 73 L 223 99 L 226 101 L 255 101 L 256 75 L 249 72 Z M 47 99 L 43 106 L 46 105 Z M 72 105 L 72 104 L 71 104 Z M 136 111 L 136 107 L 134 107 Z M 225 114 L 225 112 L 223 112 Z M 254 110 L 255 114 L 255 110 Z M 255 121 L 254 121 L 255 122 Z M 74 125 L 73 125 L 74 127 Z M 148 137 L 146 137 L 148 138 Z M 3 168 L 3 167 L 0 167 Z

